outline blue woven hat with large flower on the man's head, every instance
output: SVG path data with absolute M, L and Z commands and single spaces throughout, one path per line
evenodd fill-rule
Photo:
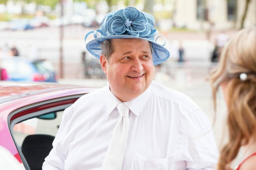
M 155 19 L 152 15 L 134 7 L 112 11 L 104 16 L 100 29 L 86 34 L 84 41 L 91 33 L 94 34 L 95 38 L 86 44 L 86 48 L 93 56 L 100 58 L 100 45 L 104 40 L 116 38 L 148 40 L 152 44 L 153 63 L 154 65 L 160 64 L 169 58 L 170 53 L 163 47 L 166 41 L 163 45 L 156 43 L 156 40 L 163 36 L 157 37 L 154 41 L 154 36 L 158 33 L 154 29 L 154 22 Z

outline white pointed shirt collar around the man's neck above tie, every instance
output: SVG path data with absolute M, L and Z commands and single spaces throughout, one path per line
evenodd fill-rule
M 149 96 L 151 93 L 151 85 L 147 88 L 147 90 L 142 93 L 137 98 L 124 102 L 125 105 L 136 115 L 140 116 L 140 113 L 146 104 Z M 109 84 L 106 87 L 106 93 L 105 93 L 105 101 L 106 101 L 106 107 L 107 107 L 107 114 L 109 115 L 114 108 L 119 104 L 122 103 L 111 91 L 109 88 Z

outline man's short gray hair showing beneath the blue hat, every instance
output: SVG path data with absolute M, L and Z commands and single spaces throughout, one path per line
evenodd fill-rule
M 100 44 L 100 47 L 101 47 L 101 54 L 104 55 L 109 62 L 110 56 L 115 52 L 115 49 L 112 45 L 112 39 L 102 41 Z M 152 44 L 150 41 L 149 41 L 149 47 L 152 54 Z

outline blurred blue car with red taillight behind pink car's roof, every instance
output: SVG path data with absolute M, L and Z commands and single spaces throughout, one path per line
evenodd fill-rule
M 8 81 L 57 82 L 54 66 L 47 60 L 7 57 L 1 59 L 1 68 L 6 69 Z

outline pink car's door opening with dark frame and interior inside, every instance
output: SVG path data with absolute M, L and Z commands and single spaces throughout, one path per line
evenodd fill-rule
M 9 129 L 26 169 L 41 169 L 52 149 L 63 111 L 83 94 L 36 102 L 9 114 Z

